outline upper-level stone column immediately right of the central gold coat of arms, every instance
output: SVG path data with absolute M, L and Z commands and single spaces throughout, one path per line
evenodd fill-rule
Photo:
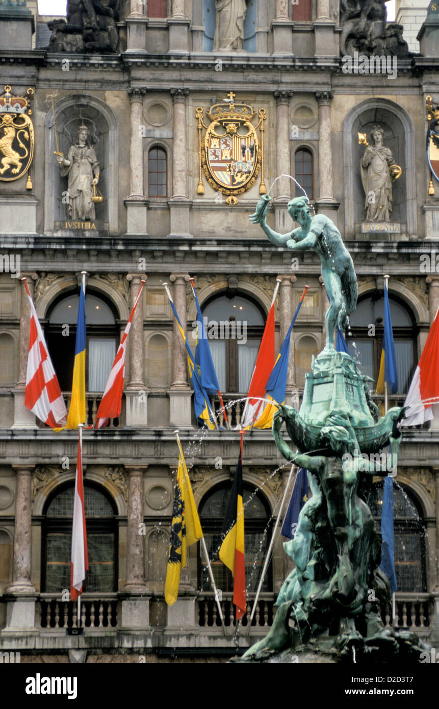
M 276 100 L 276 177 L 291 174 L 290 143 L 289 143 L 289 102 L 292 91 L 274 91 Z M 276 183 L 277 197 L 274 200 L 274 229 L 284 233 L 291 229 L 291 219 L 286 206 L 291 199 L 291 184 L 289 177 L 281 177 Z

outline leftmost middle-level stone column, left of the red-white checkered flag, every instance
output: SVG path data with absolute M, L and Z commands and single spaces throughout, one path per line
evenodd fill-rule
M 30 297 L 33 298 L 34 281 L 37 279 L 36 273 L 22 273 L 28 283 Z M 18 338 L 18 381 L 13 389 L 13 425 L 11 428 L 35 428 L 35 415 L 24 405 L 26 388 L 26 369 L 28 367 L 29 335 L 30 335 L 30 307 L 26 288 L 21 281 L 20 284 L 20 334 Z

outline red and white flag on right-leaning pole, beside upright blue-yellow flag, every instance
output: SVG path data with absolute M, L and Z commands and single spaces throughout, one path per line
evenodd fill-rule
M 137 298 L 135 298 L 135 303 L 133 305 L 133 310 L 130 314 L 130 319 L 128 320 L 128 323 L 126 323 L 121 344 L 116 352 L 113 367 L 111 367 L 110 376 L 106 383 L 105 391 L 101 398 L 101 403 L 99 404 L 99 408 L 96 412 L 94 428 L 103 428 L 107 424 L 109 418 L 117 418 L 121 415 L 123 384 L 125 383 L 126 340 L 128 334 L 130 333 L 131 320 L 133 320 L 134 311 L 138 304 L 144 283 L 146 283 L 146 281 L 142 281 L 142 284 L 140 285 Z

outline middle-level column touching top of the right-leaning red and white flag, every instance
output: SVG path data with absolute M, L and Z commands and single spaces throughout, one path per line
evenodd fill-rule
M 146 281 L 145 274 L 129 273 L 130 281 L 130 311 L 133 309 L 135 298 L 142 281 Z M 143 286 L 145 289 L 145 286 Z M 139 298 L 131 320 L 130 335 L 128 337 L 128 357 L 130 364 L 129 379 L 126 384 L 126 425 L 136 428 L 148 425 L 148 393 L 145 386 L 145 344 L 143 339 L 143 313 L 144 292 Z

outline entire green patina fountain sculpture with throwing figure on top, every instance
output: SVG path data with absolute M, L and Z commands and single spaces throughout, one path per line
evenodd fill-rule
M 326 656 L 320 661 L 352 661 L 355 654 L 365 662 L 419 661 L 426 646 L 418 637 L 382 623 L 380 603 L 389 601 L 390 588 L 379 569 L 381 539 L 367 506 L 372 476 L 396 474 L 404 408 L 391 408 L 377 420 L 369 377 L 349 354 L 335 352 L 335 328 L 346 325 L 357 301 L 352 259 L 337 228 L 325 216 L 311 218 L 307 199 L 299 198 L 288 211 L 300 228 L 274 233 L 265 223 L 268 199 L 260 200 L 250 219 L 277 246 L 320 255 L 331 307 L 326 347 L 306 374 L 300 411 L 279 405 L 272 426 L 282 455 L 308 471 L 312 493 L 294 539 L 284 543 L 295 567 L 279 591 L 267 637 L 239 661 L 291 662 L 291 652 Z M 298 452 L 281 435 L 284 423 Z M 382 449 L 389 453 L 380 454 Z

